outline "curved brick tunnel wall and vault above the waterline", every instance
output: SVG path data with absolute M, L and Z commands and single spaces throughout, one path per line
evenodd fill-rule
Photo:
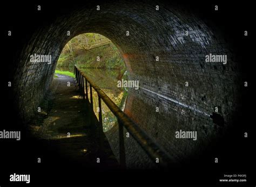
M 164 2 L 103 3 L 99 11 L 96 5 L 73 8 L 39 27 L 18 54 L 14 84 L 23 121 L 30 119 L 48 90 L 66 42 L 78 34 L 95 32 L 116 44 L 130 78 L 139 80 L 140 87 L 208 114 L 218 106 L 226 123 L 231 123 L 240 84 L 238 63 L 221 34 L 186 9 Z M 126 31 L 130 32 L 129 36 Z M 29 56 L 34 53 L 52 55 L 52 63 L 31 64 Z M 205 55 L 210 53 L 227 55 L 227 64 L 206 63 Z M 140 111 L 129 104 L 127 107 Z M 168 136 L 166 133 L 164 138 Z

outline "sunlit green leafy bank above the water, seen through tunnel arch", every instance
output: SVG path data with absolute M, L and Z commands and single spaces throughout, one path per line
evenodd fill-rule
M 97 47 L 95 47 L 97 46 Z M 97 61 L 97 56 L 100 61 Z M 57 67 L 118 69 L 125 71 L 125 63 L 116 46 L 100 34 L 80 34 L 71 39 L 59 56 Z

